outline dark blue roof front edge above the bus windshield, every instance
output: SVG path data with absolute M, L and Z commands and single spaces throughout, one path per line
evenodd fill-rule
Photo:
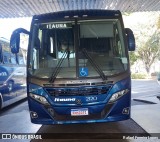
M 64 19 L 76 17 L 121 17 L 119 10 L 70 10 L 33 16 L 33 20 Z

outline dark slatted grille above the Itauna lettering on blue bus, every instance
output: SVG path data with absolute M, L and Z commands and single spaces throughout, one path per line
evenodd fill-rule
M 85 96 L 107 94 L 111 85 L 105 86 L 83 86 L 83 87 L 64 87 L 46 88 L 51 96 Z

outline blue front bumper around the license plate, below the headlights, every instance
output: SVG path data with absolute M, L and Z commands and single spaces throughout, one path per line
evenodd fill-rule
M 31 122 L 35 124 L 73 124 L 121 121 L 130 118 L 129 95 L 113 104 L 88 106 L 44 106 L 29 98 Z M 88 115 L 72 116 L 72 109 L 88 109 Z

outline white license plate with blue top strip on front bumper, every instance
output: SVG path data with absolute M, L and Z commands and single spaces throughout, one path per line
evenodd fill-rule
M 71 109 L 71 116 L 83 116 L 88 115 L 88 108 Z

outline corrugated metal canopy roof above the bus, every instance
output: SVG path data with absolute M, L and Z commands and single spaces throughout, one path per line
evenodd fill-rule
M 0 18 L 80 9 L 160 11 L 160 0 L 0 0 L 0 9 Z

